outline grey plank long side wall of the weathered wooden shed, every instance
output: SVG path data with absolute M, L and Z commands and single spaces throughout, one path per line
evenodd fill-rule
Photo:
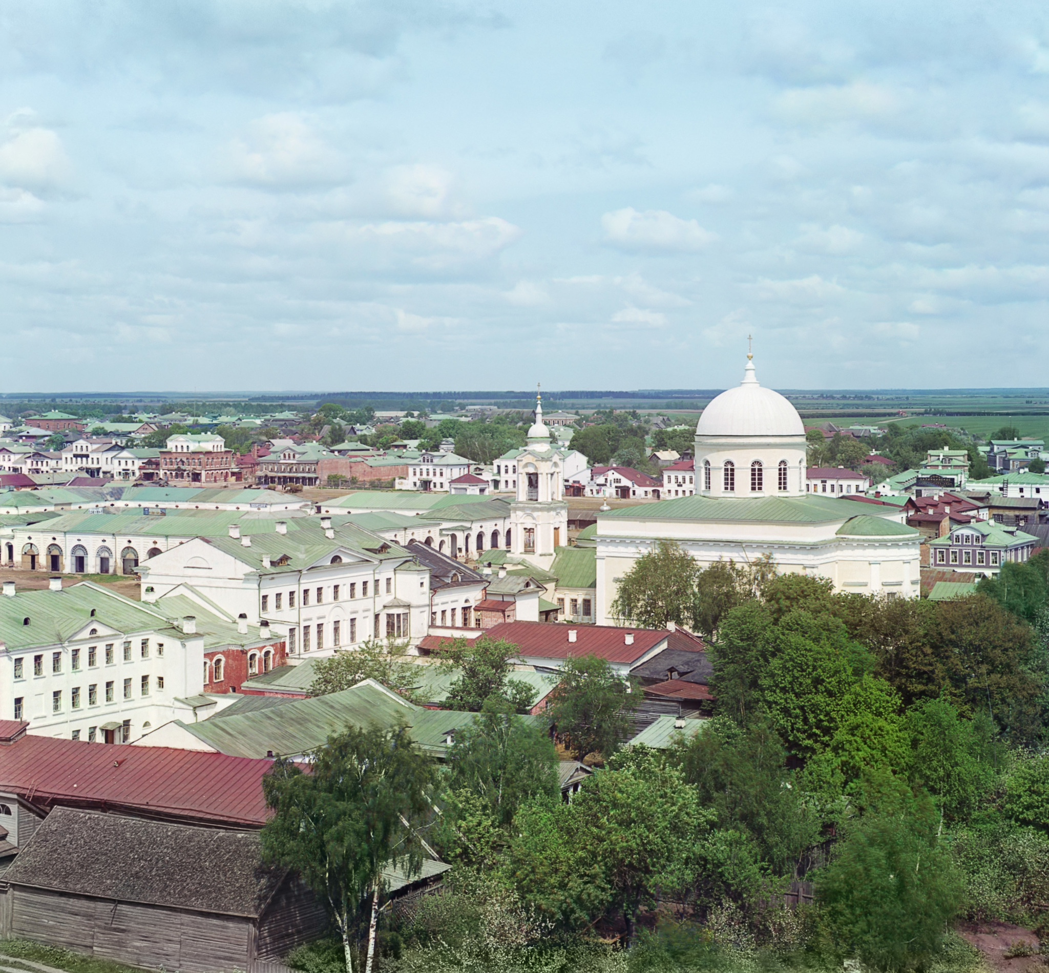
M 243 970 L 251 920 L 13 886 L 10 934 L 183 973 Z

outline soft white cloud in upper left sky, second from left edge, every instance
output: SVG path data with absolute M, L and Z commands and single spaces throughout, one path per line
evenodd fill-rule
M 293 112 L 264 115 L 230 140 L 224 164 L 235 181 L 294 189 L 345 179 L 339 155 Z

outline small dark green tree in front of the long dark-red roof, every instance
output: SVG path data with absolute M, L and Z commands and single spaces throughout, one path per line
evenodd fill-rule
M 607 759 L 627 736 L 640 690 L 596 655 L 569 656 L 559 676 L 547 705 L 558 736 L 577 760 L 592 753 Z

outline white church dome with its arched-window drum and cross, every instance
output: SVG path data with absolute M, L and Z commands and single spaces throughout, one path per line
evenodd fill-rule
M 804 496 L 807 445 L 797 410 L 758 384 L 748 355 L 743 382 L 718 395 L 695 427 L 698 485 L 708 497 Z

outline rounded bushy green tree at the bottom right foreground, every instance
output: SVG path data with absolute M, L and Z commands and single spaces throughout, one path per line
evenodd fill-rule
M 886 794 L 848 828 L 817 879 L 838 942 L 874 969 L 922 967 L 940 949 L 962 883 L 938 826 L 927 797 Z

